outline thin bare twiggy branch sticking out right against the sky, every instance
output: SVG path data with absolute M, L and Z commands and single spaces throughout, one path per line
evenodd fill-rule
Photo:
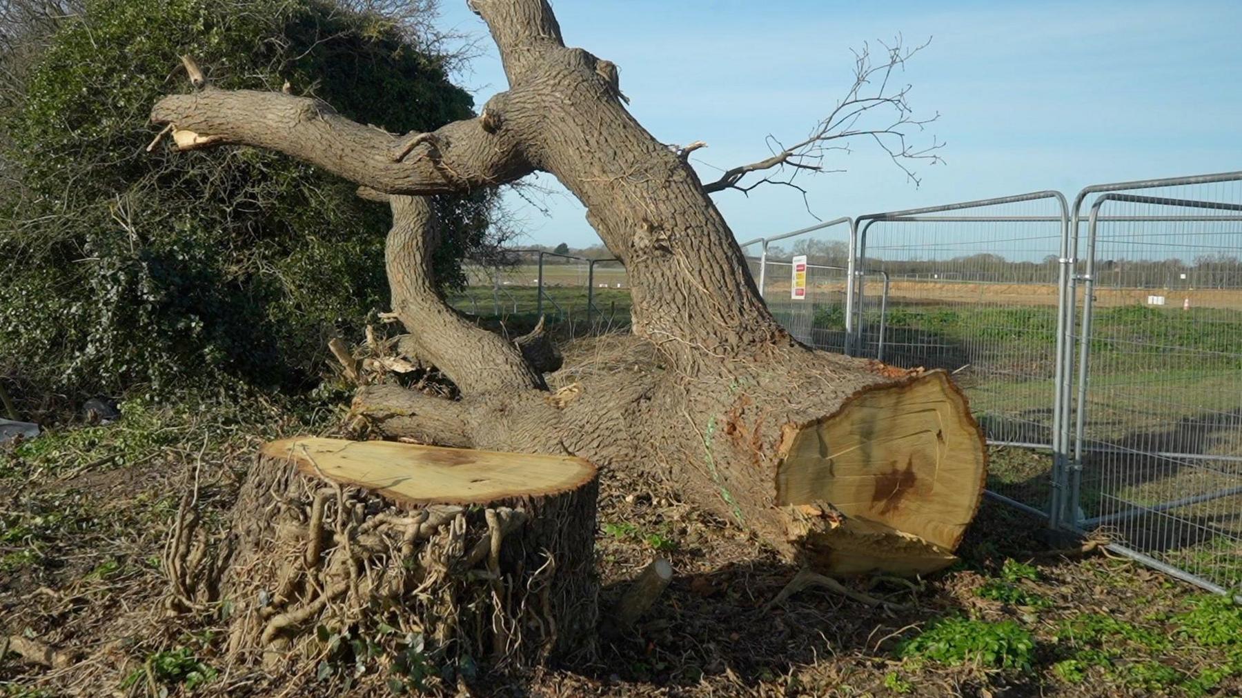
M 846 96 L 837 103 L 832 112 L 820 119 L 806 138 L 784 145 L 775 137 L 766 138 L 770 156 L 746 165 L 739 165 L 724 170 L 715 181 L 703 185 L 707 193 L 735 189 L 749 193 L 759 184 L 782 184 L 800 189 L 792 184 L 799 170 L 811 173 L 838 173 L 841 169 L 826 170 L 823 166 L 827 155 L 835 150 L 850 153 L 850 142 L 858 138 L 867 138 L 879 145 L 888 154 L 905 176 L 920 183 L 917 173 L 912 168 L 915 160 L 924 160 L 929 164 L 943 161 L 936 153 L 944 147 L 933 137 L 932 144 L 923 148 L 912 147 L 909 137 L 912 133 L 922 132 L 927 124 L 936 120 L 940 114 L 930 118 L 914 117 L 908 97 L 910 86 L 899 89 L 891 87 L 891 79 L 895 71 L 904 70 L 905 62 L 915 53 L 925 48 L 927 42 L 913 48 L 902 46 L 902 37 L 898 36 L 893 45 L 881 42 L 884 47 L 884 57 L 881 62 L 873 60 L 871 47 L 863 45 L 861 51 L 854 51 L 854 81 Z M 878 125 L 871 125 L 874 122 Z M 786 178 L 765 176 L 750 185 L 743 185 L 743 179 L 750 173 L 776 169 L 779 173 L 792 170 Z M 804 195 L 805 195 L 805 190 Z

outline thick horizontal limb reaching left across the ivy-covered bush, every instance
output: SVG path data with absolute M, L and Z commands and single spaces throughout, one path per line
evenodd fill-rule
M 504 93 L 493 97 L 488 108 L 503 112 L 504 101 Z M 399 138 L 340 117 L 318 99 L 207 87 L 164 97 L 152 120 L 171 124 L 181 150 L 229 144 L 268 148 L 389 194 L 461 194 L 533 171 L 517 138 L 503 129 L 486 132 L 478 118 L 446 124 L 421 139 Z

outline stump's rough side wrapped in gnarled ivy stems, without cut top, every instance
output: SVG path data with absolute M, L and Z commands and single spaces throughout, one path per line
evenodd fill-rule
M 215 555 L 183 503 L 165 555 L 168 605 L 219 604 L 230 662 L 267 671 L 347 651 L 325 633 L 391 656 L 421 637 L 437 661 L 502 668 L 590 652 L 595 497 L 592 479 L 520 501 L 407 508 L 265 456 Z

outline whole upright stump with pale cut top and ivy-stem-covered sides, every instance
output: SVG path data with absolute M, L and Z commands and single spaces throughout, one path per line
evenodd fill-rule
M 574 457 L 268 443 L 221 556 L 229 652 L 277 669 L 359 640 L 431 666 L 589 651 L 596 497 Z

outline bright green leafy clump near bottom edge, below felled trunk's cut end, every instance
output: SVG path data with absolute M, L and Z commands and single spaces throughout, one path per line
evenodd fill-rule
M 900 643 L 902 657 L 920 657 L 941 664 L 1030 669 L 1035 637 L 1013 621 L 985 622 L 959 616 L 929 623 Z

